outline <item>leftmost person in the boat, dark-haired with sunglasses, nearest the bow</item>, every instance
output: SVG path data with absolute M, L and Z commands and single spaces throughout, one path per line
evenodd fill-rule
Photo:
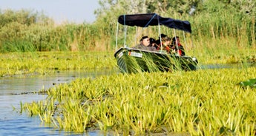
M 155 47 L 150 46 L 150 41 L 148 36 L 143 36 L 140 39 L 140 44 L 136 45 L 135 47 L 131 47 L 134 49 L 140 49 L 140 50 L 149 50 L 149 51 L 157 51 Z

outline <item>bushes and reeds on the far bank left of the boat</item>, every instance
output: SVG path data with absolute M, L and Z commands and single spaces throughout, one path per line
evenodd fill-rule
M 0 19 L 0 52 L 95 50 L 105 33 L 92 24 L 56 25 L 28 10 L 4 10 Z

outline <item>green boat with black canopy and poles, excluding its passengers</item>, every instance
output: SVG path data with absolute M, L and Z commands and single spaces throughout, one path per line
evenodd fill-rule
M 164 26 L 172 30 L 182 30 L 186 33 L 191 33 L 191 25 L 188 21 L 164 18 L 157 15 L 157 13 L 121 15 L 119 16 L 117 23 L 116 49 L 118 39 L 118 24 L 142 28 L 151 26 Z M 178 69 L 186 71 L 196 70 L 198 64 L 197 58 L 188 55 L 178 55 L 177 53 L 170 54 L 164 50 L 149 51 L 134 49 L 132 47 L 128 47 L 126 44 L 116 50 L 114 57 L 116 58 L 117 66 L 121 72 L 128 73 L 157 71 L 164 72 Z

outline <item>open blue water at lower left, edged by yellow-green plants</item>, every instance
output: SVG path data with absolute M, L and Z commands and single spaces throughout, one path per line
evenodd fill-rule
M 100 132 L 75 134 L 65 132 L 41 122 L 39 117 L 20 113 L 20 103 L 31 103 L 47 98 L 38 95 L 40 89 L 56 84 L 68 83 L 76 78 L 96 77 L 113 74 L 116 71 L 101 72 L 56 72 L 53 75 L 16 76 L 0 78 L 0 135 L 101 135 Z

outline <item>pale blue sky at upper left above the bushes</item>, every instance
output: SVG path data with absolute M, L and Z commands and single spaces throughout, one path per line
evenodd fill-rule
M 96 20 L 94 10 L 98 8 L 98 0 L 0 0 L 1 11 L 27 9 L 43 12 L 56 23 L 92 23 Z

